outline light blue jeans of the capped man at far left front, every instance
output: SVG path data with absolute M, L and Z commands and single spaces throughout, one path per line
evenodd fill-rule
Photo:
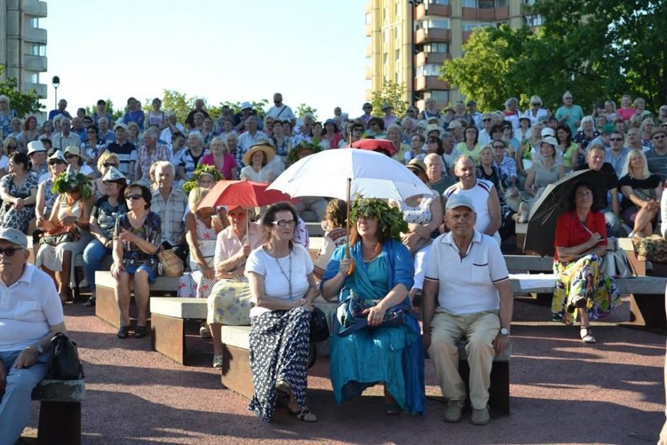
M 48 353 L 41 354 L 30 368 L 13 367 L 21 351 L 0 352 L 7 373 L 7 386 L 0 402 L 0 445 L 13 445 L 30 420 L 31 395 L 47 371 Z

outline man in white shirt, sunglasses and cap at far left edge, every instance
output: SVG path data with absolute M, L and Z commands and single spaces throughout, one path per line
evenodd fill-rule
M 28 264 L 28 239 L 0 229 L 0 444 L 28 424 L 33 388 L 47 371 L 49 341 L 66 333 L 53 280 Z

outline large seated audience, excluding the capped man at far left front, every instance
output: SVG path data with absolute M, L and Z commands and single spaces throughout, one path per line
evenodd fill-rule
M 579 318 L 586 343 L 595 342 L 590 319 L 609 314 L 619 297 L 602 268 L 607 237 L 665 234 L 658 226 L 667 222 L 667 106 L 654 115 L 641 98 L 624 96 L 618 109 L 608 100 L 587 116 L 566 92 L 554 113 L 538 96 L 525 111 L 509 98 L 505 109 L 485 113 L 473 100 L 439 110 L 426 99 L 424 110 L 409 107 L 404 116 L 390 104 L 375 116 L 366 103 L 357 118 L 336 108 L 321 122 L 312 114 L 297 120 L 279 93 L 273 103 L 265 114 L 244 102 L 236 113 L 224 107 L 211 116 L 198 100 L 178 122 L 160 99 L 143 111 L 131 97 L 126 114 L 111 122 L 102 100 L 92 116 L 84 109 L 71 116 L 62 99 L 38 125 L 35 116 L 18 119 L 0 96 L 0 226 L 11 231 L 0 236 L 0 256 L 13 253 L 5 243 L 27 249 L 21 236 L 31 236 L 35 266 L 65 303 L 72 299 L 72 258 L 82 253 L 89 306 L 96 303 L 94 271 L 111 256 L 118 338 L 125 339 L 146 335 L 150 284 L 160 256 L 170 253 L 187 270 L 179 295 L 208 301 L 200 333 L 213 339 L 215 368 L 223 366 L 220 327 L 252 326 L 250 410 L 265 421 L 277 397 L 287 397 L 298 419 L 316 421 L 306 404 L 306 370 L 319 295 L 346 308 L 331 340 L 340 403 L 383 383 L 387 414 L 423 414 L 425 348 L 448 400 L 445 418 L 458 422 L 465 385 L 457 344 L 468 339 L 472 421 L 485 424 L 492 358 L 507 348 L 512 320 L 500 244 L 527 221 L 546 187 L 576 170 L 604 177 L 605 187 L 576 187 L 554 241 L 553 318 Z M 302 197 L 296 206 L 259 211 L 199 208 L 219 180 L 272 182 L 299 159 L 363 138 L 389 141 L 378 150 L 431 192 L 403 202 L 355 199 L 350 234 L 346 203 L 338 199 Z M 325 227 L 315 261 L 304 221 Z M 131 289 L 138 305 L 133 333 Z M 423 330 L 412 310 L 417 304 Z M 60 326 L 62 309 L 47 318 L 42 335 Z M 0 351 L 7 345 L 0 336 Z

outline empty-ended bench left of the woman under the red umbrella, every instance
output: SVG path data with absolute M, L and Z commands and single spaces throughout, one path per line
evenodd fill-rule
M 151 297 L 150 343 L 154 351 L 187 365 L 187 324 L 206 320 L 206 299 Z

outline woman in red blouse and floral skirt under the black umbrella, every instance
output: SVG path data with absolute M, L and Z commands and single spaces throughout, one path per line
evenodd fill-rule
M 553 290 L 551 315 L 554 320 L 573 324 L 580 317 L 580 338 L 595 343 L 590 319 L 607 317 L 619 302 L 612 278 L 605 276 L 602 261 L 607 251 L 605 214 L 597 209 L 591 185 L 580 183 L 570 200 L 571 208 L 556 222 L 553 241 Z M 584 310 L 581 310 L 584 309 Z

